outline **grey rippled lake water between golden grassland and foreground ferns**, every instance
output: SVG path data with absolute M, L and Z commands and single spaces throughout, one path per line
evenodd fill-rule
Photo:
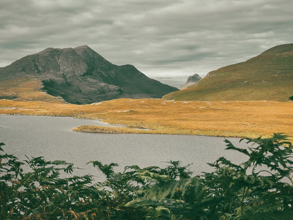
M 0 142 L 4 152 L 19 160 L 44 156 L 47 160 L 66 160 L 82 169 L 75 175 L 91 173 L 96 180 L 103 177 L 88 161 L 99 160 L 103 164 L 118 163 L 116 171 L 126 165 L 165 167 L 169 160 L 181 160 L 183 165 L 193 163 L 195 174 L 211 172 L 207 163 L 224 156 L 233 162 L 243 162 L 243 155 L 224 150 L 222 137 L 195 135 L 158 134 L 107 134 L 73 132 L 80 125 L 103 125 L 97 120 L 73 119 L 71 117 L 0 115 Z M 227 138 L 236 146 L 239 138 Z

